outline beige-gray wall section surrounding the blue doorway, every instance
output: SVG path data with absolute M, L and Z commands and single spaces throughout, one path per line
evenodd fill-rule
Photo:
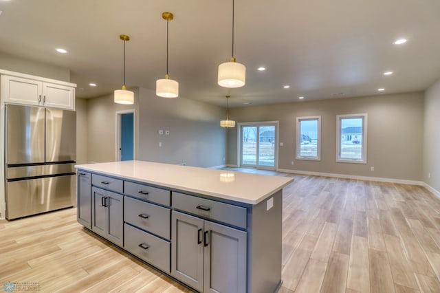
M 116 111 L 135 109 L 136 138 L 139 137 L 139 89 L 134 105 L 120 105 L 113 101 L 113 94 L 87 100 L 87 163 L 113 162 L 116 160 Z M 136 158 L 139 140 L 135 145 Z

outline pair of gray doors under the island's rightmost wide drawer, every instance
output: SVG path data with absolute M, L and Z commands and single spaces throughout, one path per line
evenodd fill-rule
M 171 274 L 201 292 L 246 292 L 247 232 L 172 212 Z

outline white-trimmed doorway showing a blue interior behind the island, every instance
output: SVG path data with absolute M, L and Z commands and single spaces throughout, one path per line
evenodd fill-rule
M 135 110 L 116 111 L 116 160 L 135 160 Z

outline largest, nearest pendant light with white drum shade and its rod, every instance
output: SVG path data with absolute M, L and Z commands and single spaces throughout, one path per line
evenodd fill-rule
M 219 65 L 217 83 L 222 87 L 243 87 L 246 83 L 246 67 L 235 62 L 234 57 L 234 0 L 232 0 L 232 57 L 229 62 Z

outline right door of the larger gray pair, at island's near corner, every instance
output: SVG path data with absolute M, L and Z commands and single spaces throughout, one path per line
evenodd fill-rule
M 203 292 L 246 292 L 247 232 L 205 221 Z

